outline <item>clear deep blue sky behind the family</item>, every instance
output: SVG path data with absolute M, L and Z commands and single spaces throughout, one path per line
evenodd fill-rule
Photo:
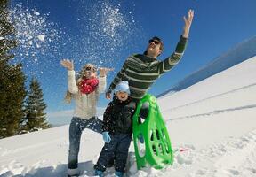
M 149 90 L 158 95 L 237 43 L 255 36 L 256 1 L 13 0 L 12 20 L 16 21 L 20 40 L 14 62 L 23 64 L 28 81 L 36 76 L 41 83 L 49 119 L 50 115 L 65 117 L 74 104 L 63 102 L 67 72 L 60 66 L 61 58 L 73 59 L 77 72 L 88 62 L 114 67 L 108 74 L 109 85 L 125 58 L 143 53 L 152 36 L 164 41 L 159 59 L 171 55 L 189 9 L 195 11 L 195 17 L 187 49 L 179 65 Z M 100 96 L 99 107 L 104 110 L 106 104 L 108 100 Z

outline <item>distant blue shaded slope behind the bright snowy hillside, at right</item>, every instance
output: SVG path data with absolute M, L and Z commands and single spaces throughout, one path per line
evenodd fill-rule
M 176 91 L 186 89 L 198 81 L 203 81 L 213 74 L 220 73 L 221 71 L 237 65 L 248 58 L 256 56 L 255 45 L 256 36 L 237 44 L 235 47 L 220 55 L 220 57 L 214 58 L 212 62 L 198 69 L 196 72 L 188 75 L 182 81 L 174 85 L 171 89 L 164 91 L 164 93 L 158 95 L 157 97 L 164 96 L 166 94 L 171 95 Z

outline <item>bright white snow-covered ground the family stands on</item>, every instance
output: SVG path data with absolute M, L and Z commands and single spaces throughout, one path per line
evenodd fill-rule
M 256 176 L 256 57 L 158 98 L 175 152 L 162 170 L 136 169 L 133 144 L 128 176 Z M 85 130 L 79 168 L 93 176 L 103 146 Z M 186 151 L 179 151 L 187 149 Z M 0 176 L 66 176 L 68 125 L 0 140 Z M 113 176 L 113 168 L 106 176 Z

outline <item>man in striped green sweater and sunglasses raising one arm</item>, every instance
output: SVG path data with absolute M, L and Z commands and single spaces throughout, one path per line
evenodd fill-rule
M 112 90 L 116 88 L 119 81 L 128 81 L 131 91 L 131 97 L 135 103 L 145 96 L 150 86 L 159 78 L 160 75 L 172 69 L 177 65 L 188 42 L 189 29 L 194 17 L 194 11 L 188 11 L 188 17 L 183 17 L 185 25 L 183 34 L 180 36 L 180 42 L 172 55 L 164 61 L 157 60 L 157 57 L 163 52 L 164 44 L 158 37 L 153 37 L 148 41 L 147 50 L 143 54 L 135 54 L 127 58 L 114 81 L 111 82 L 106 98 L 111 97 Z M 143 108 L 142 108 L 143 109 Z

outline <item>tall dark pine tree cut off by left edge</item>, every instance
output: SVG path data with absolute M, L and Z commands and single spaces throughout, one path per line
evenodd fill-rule
M 0 138 L 19 134 L 26 96 L 22 65 L 11 65 L 17 47 L 15 30 L 8 20 L 8 0 L 0 1 Z

